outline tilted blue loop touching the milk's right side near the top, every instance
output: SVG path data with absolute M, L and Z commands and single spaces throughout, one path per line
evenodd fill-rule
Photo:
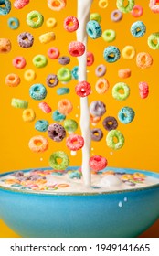
M 90 20 L 86 25 L 86 31 L 90 38 L 97 39 L 101 37 L 101 26 L 96 20 Z

